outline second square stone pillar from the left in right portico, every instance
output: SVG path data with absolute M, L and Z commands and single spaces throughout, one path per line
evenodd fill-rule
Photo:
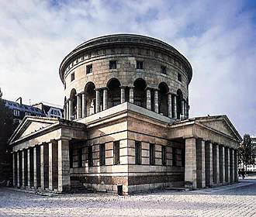
M 205 141 L 196 140 L 197 188 L 206 188 Z

